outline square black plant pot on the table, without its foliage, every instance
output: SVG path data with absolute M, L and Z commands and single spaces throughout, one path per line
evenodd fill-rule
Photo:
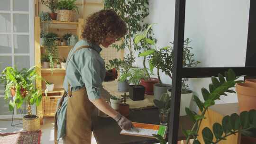
M 144 100 L 145 99 L 145 87 L 142 85 L 130 85 L 129 86 L 129 97 L 130 99 Z

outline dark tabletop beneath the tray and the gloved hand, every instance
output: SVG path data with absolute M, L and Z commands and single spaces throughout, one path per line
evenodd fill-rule
M 98 117 L 97 108 L 92 115 L 92 132 L 96 139 L 97 144 L 155 144 L 159 143 L 156 139 L 120 135 L 121 129 L 117 122 L 110 117 Z M 143 109 L 143 110 L 130 110 L 127 117 L 132 122 L 156 124 L 159 125 L 159 111 L 157 108 Z M 182 134 L 181 122 L 184 129 L 191 129 L 192 122 L 189 117 L 180 117 L 179 140 L 184 140 L 186 137 Z M 167 134 L 168 136 L 168 134 Z

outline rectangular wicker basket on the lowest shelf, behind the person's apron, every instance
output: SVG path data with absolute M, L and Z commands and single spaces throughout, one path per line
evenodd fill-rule
M 54 117 L 58 99 L 62 96 L 48 96 L 43 97 L 43 116 Z

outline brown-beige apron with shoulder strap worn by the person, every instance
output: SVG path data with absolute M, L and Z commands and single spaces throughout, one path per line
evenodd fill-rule
M 82 48 L 89 48 L 90 46 L 84 45 L 76 49 L 75 52 Z M 73 56 L 70 56 L 69 60 Z M 67 64 L 69 62 L 67 61 Z M 66 65 L 67 65 L 66 64 Z M 83 87 L 77 91 L 71 91 L 70 84 L 68 83 L 68 103 L 66 111 L 66 136 L 64 137 L 64 144 L 91 144 L 91 113 L 94 105 L 88 99 L 86 88 Z M 59 107 L 62 105 L 60 102 Z M 55 114 L 55 144 L 57 134 L 57 115 Z

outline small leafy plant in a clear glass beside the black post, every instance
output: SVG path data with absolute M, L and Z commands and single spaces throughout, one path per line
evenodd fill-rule
M 171 106 L 171 97 L 167 93 L 161 95 L 160 100 L 154 99 L 155 106 L 159 109 L 160 125 L 168 125 Z

